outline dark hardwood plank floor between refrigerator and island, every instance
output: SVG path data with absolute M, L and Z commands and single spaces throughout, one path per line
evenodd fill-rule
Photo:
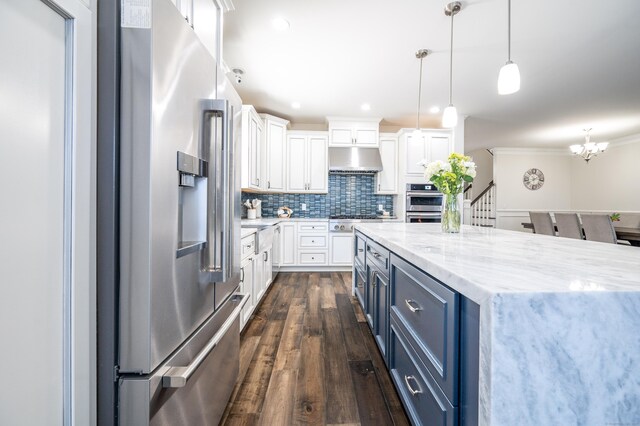
M 281 273 L 241 336 L 222 425 L 408 425 L 351 273 Z

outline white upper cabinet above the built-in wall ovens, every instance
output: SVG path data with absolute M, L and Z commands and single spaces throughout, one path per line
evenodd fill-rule
M 422 137 L 415 138 L 412 133 L 406 133 L 405 174 L 407 176 L 423 176 L 424 166 L 421 160 L 432 162 L 446 160 L 453 150 L 452 138 L 448 132 L 423 131 Z

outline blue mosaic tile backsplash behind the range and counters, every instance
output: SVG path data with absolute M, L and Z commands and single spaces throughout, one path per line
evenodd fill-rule
M 262 201 L 262 217 L 277 217 L 279 207 L 293 210 L 293 217 L 327 218 L 334 215 L 375 215 L 378 204 L 393 215 L 393 195 L 376 195 L 375 175 L 329 175 L 328 194 L 254 194 L 242 193 L 242 202 Z M 302 211 L 301 204 L 307 205 Z M 242 217 L 247 216 L 243 207 Z

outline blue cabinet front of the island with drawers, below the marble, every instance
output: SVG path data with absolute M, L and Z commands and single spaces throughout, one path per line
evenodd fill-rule
M 362 233 L 356 294 L 414 424 L 476 425 L 478 307 Z M 363 303 L 364 301 L 364 303 Z M 464 306 L 465 309 L 461 309 Z

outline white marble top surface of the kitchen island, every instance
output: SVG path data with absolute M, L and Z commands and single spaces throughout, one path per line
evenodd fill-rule
M 640 249 L 493 228 L 367 223 L 356 229 L 476 303 L 503 293 L 640 292 Z

